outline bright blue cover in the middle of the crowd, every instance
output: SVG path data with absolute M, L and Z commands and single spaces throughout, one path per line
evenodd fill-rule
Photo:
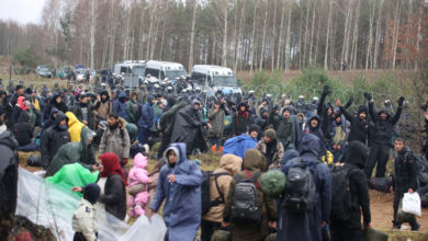
M 244 159 L 248 149 L 255 149 L 257 139 L 241 134 L 240 136 L 227 139 L 223 147 L 223 154 L 235 154 Z

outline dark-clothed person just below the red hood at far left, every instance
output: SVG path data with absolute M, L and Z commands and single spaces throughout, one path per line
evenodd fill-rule
M 13 125 L 13 135 L 18 140 L 19 151 L 38 150 L 38 146 L 33 141 L 33 126 L 29 123 L 30 116 L 26 112 L 22 112 L 19 122 Z

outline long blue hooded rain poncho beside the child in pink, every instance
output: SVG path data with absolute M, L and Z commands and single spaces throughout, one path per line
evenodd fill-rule
M 158 188 L 150 209 L 158 210 L 165 202 L 164 221 L 168 228 L 169 241 L 193 241 L 201 222 L 202 173 L 194 162 L 188 160 L 184 144 L 171 144 L 166 152 L 173 150 L 177 164 L 169 163 L 160 169 Z M 167 179 L 176 175 L 176 183 Z

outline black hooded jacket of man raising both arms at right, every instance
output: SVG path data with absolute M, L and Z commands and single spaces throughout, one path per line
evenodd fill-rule
M 381 111 L 376 113 L 374 103 L 369 103 L 370 117 L 373 122 L 373 134 L 370 135 L 370 140 L 372 144 L 391 144 L 391 138 L 394 133 L 394 126 L 395 124 L 397 124 L 399 117 L 402 116 L 402 110 L 403 108 L 398 107 L 395 112 L 395 115 L 391 117 L 387 108 L 381 108 Z M 381 118 L 381 113 L 386 113 L 386 119 Z

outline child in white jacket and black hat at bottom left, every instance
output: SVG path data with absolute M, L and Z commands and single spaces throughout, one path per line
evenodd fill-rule
M 72 215 L 74 241 L 95 241 L 98 239 L 98 220 L 95 204 L 100 198 L 100 186 L 95 183 L 74 188 L 83 194 L 79 206 Z

